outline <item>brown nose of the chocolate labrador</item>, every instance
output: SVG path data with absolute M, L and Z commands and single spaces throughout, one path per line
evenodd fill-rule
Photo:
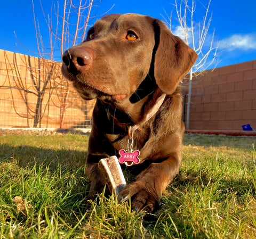
M 90 68 L 92 55 L 84 47 L 71 47 L 62 55 L 62 62 L 70 73 L 76 74 Z

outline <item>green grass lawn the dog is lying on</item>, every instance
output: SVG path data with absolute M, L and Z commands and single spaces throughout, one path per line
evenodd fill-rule
M 154 215 L 102 194 L 84 200 L 87 141 L 0 136 L 1 239 L 256 238 L 256 138 L 186 135 L 180 175 Z

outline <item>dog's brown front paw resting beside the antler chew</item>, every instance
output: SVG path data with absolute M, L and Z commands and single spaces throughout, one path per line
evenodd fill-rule
M 152 212 L 159 204 L 159 197 L 137 182 L 127 185 L 118 194 L 118 201 L 127 201 L 130 197 L 132 209 L 135 212 L 141 210 Z

